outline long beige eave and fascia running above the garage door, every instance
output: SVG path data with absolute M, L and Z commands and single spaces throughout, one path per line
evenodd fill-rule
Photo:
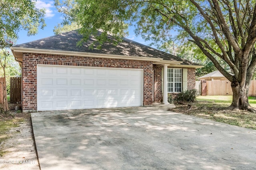
M 40 53 L 40 54 L 81 56 L 81 57 L 152 61 L 152 62 L 163 61 L 163 59 L 161 59 L 161 58 L 152 58 L 152 57 L 137 57 L 137 56 L 124 56 L 124 55 L 112 55 L 112 54 L 84 53 L 84 52 L 73 52 L 73 51 L 49 50 L 49 49 L 31 49 L 31 48 L 22 48 L 22 47 L 10 47 L 10 48 L 12 50 L 12 53 L 14 54 L 14 57 L 17 57 L 17 58 L 18 57 L 22 58 L 22 53 Z

